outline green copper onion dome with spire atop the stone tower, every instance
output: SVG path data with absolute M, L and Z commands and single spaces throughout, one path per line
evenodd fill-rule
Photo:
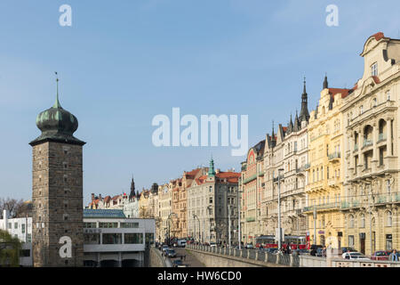
M 59 87 L 57 79 L 56 102 L 52 108 L 44 110 L 36 117 L 36 126 L 42 131 L 42 134 L 29 144 L 35 145 L 41 142 L 66 142 L 72 144 L 84 145 L 85 142 L 74 137 L 78 127 L 77 118 L 68 110 L 64 110 L 59 101 Z

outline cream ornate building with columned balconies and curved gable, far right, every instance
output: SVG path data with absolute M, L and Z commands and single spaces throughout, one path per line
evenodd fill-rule
M 341 210 L 348 246 L 369 255 L 400 247 L 400 40 L 377 33 L 361 56 L 364 75 L 341 108 L 346 119 Z

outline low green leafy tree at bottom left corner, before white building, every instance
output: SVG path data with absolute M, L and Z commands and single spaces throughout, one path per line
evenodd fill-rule
M 0 230 L 0 266 L 20 266 L 21 243 L 18 238 L 12 238 L 9 232 Z

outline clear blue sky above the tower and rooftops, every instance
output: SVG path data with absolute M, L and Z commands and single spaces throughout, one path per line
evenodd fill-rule
M 72 7 L 60 27 L 59 7 Z M 339 27 L 325 24 L 328 4 Z M 264 0 L 20 1 L 0 3 L 0 196 L 31 198 L 36 115 L 54 102 L 76 115 L 84 140 L 84 200 L 129 191 L 206 165 L 240 169 L 226 148 L 156 148 L 152 118 L 249 115 L 249 143 L 300 110 L 302 78 L 316 106 L 362 76 L 367 37 L 399 37 L 400 2 Z

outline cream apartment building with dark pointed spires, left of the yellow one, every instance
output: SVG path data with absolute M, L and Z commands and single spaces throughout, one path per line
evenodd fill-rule
M 304 82 L 300 116 L 296 111 L 287 127 L 279 125 L 277 134 L 267 134 L 264 151 L 265 189 L 262 195 L 261 216 L 265 222 L 264 235 L 277 240 L 278 191 L 280 183 L 281 228 L 291 240 L 305 238 L 308 221 L 302 213 L 306 206 L 305 185 L 308 183 L 308 94 Z M 278 175 L 280 179 L 278 181 Z M 282 239 L 284 241 L 284 237 Z

